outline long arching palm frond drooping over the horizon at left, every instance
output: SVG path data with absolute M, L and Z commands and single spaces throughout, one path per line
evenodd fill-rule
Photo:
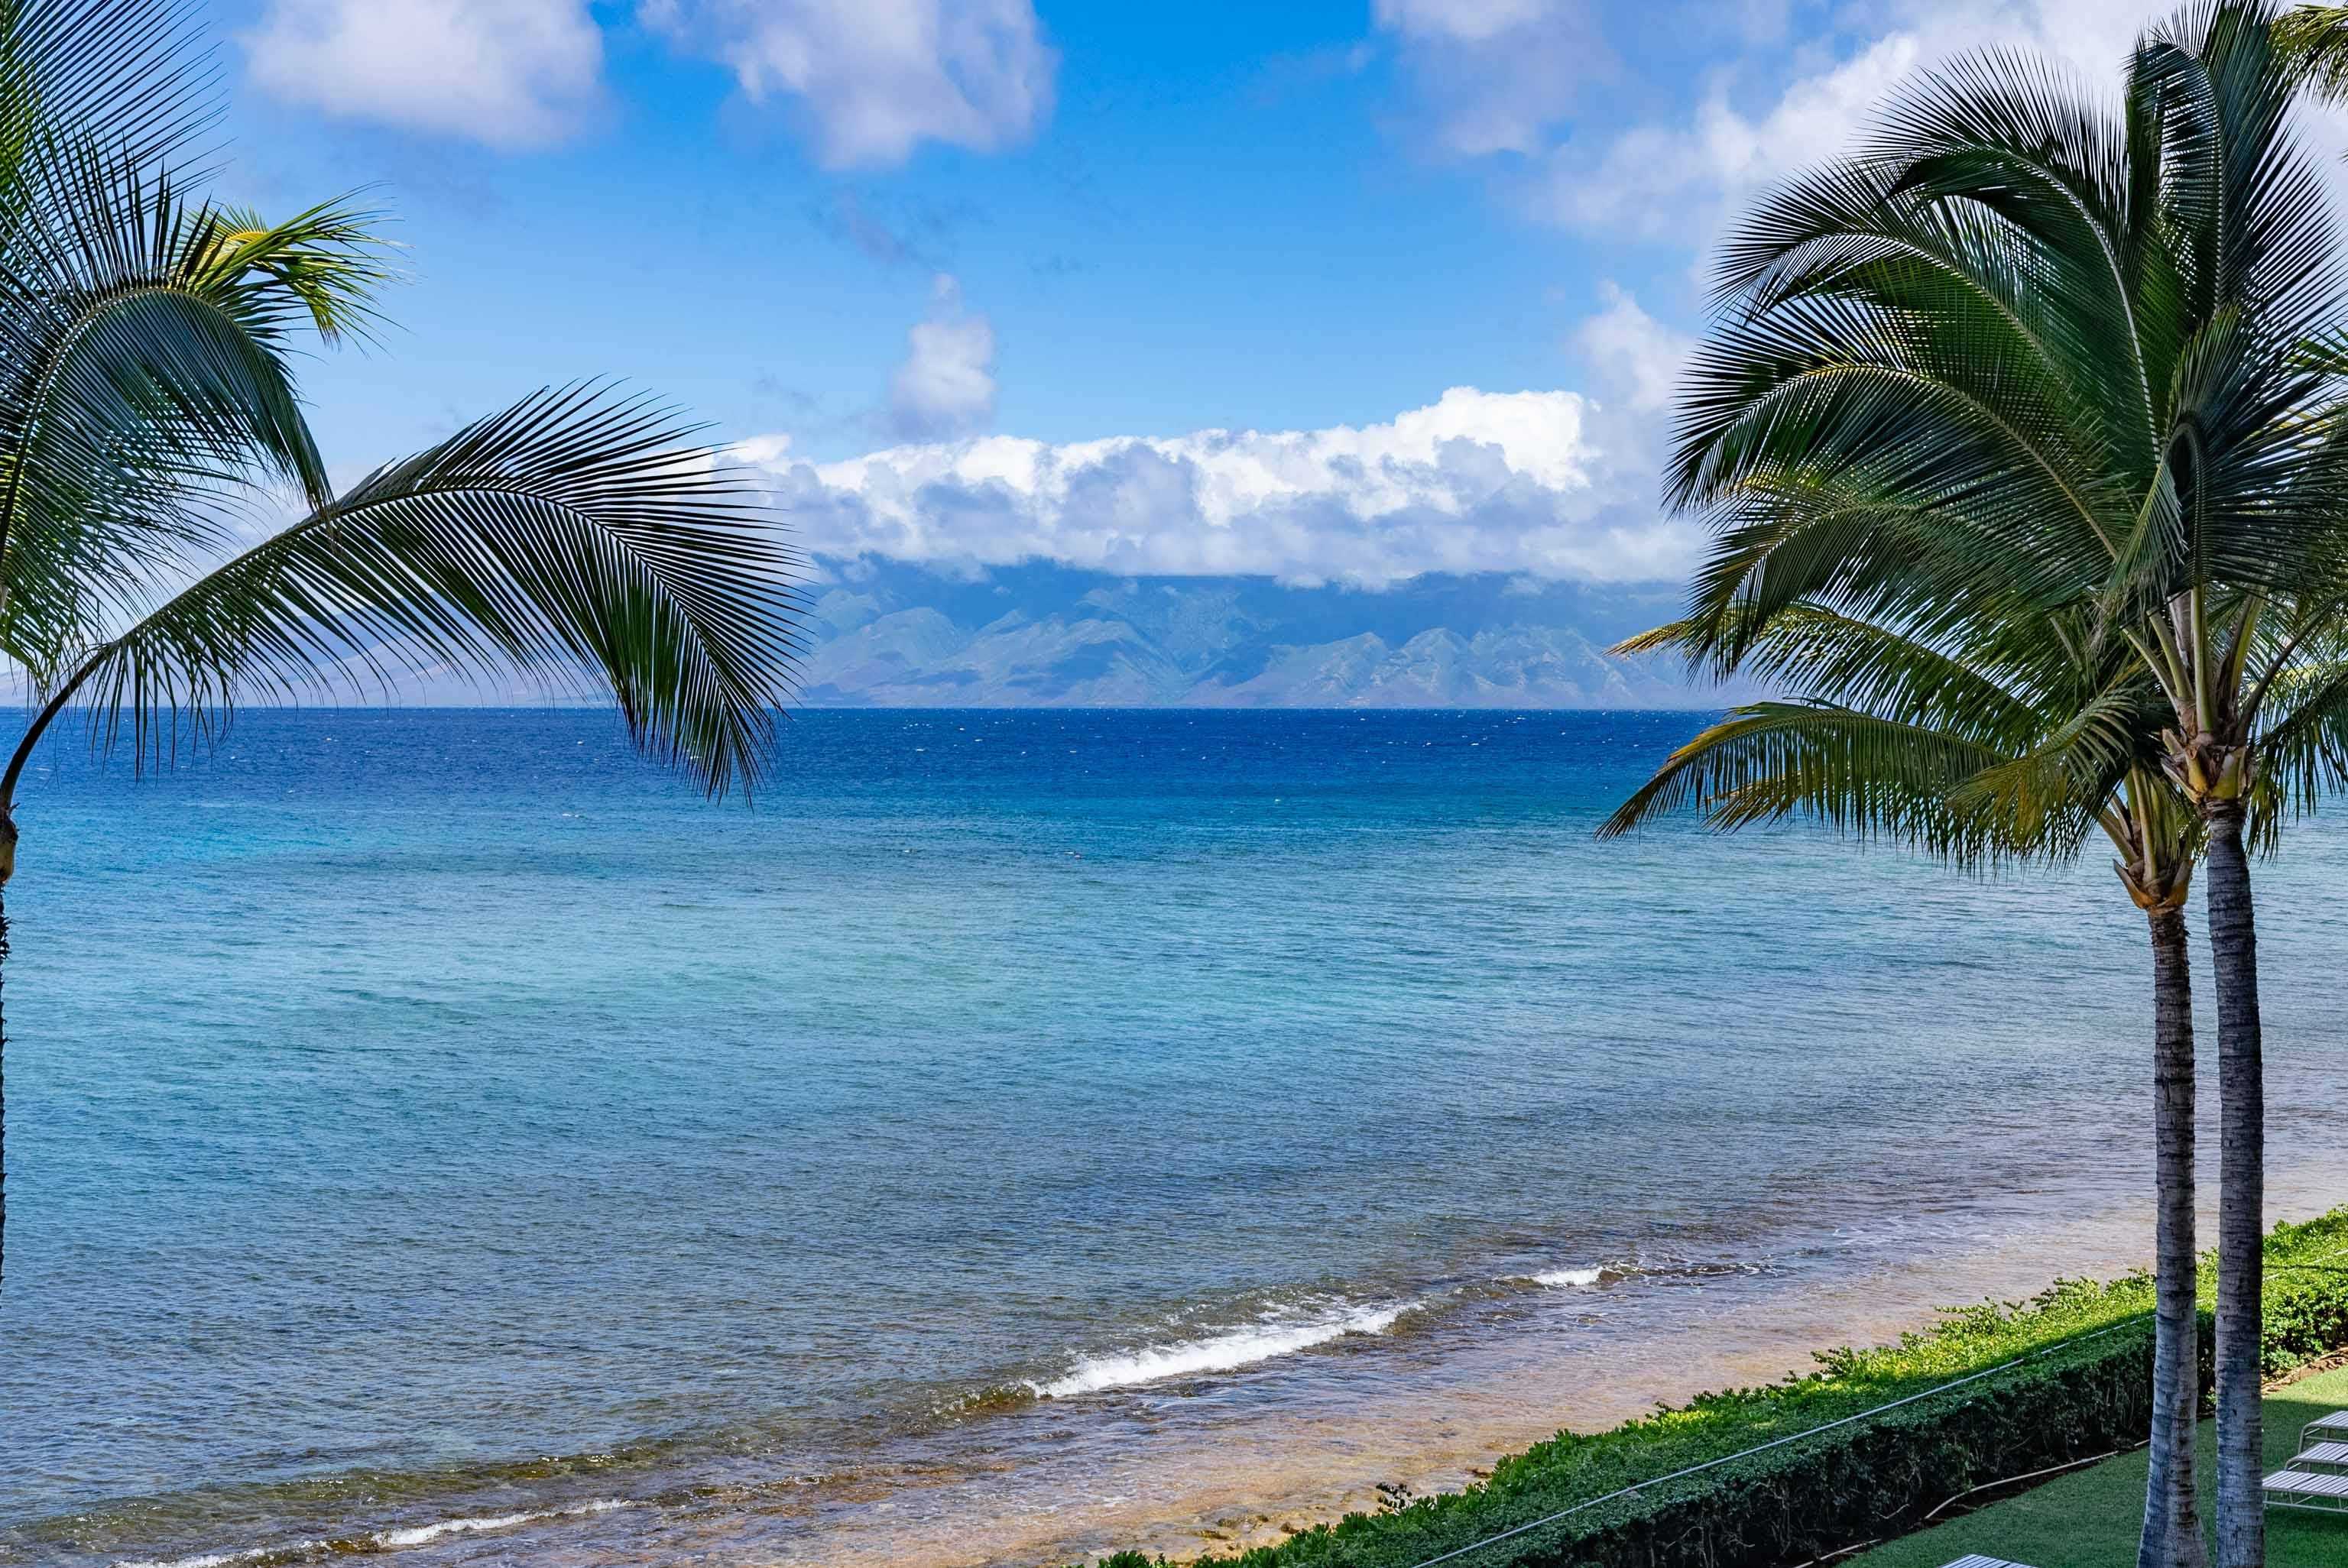
M 798 653 L 796 556 L 761 495 L 641 397 L 538 392 L 247 549 L 108 638 L 61 683 L 0 782 L 68 704 L 101 744 L 162 758 L 239 702 L 322 671 L 587 674 L 629 732 L 711 793 L 749 786 Z

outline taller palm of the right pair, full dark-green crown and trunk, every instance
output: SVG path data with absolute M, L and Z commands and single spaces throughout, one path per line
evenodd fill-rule
M 2339 315 L 2339 249 L 2292 82 L 2249 0 L 2146 33 L 2120 115 L 2012 54 L 1925 77 L 1867 150 L 1730 237 L 1669 481 L 1726 528 L 1698 620 L 1822 601 L 1942 648 L 1984 606 L 2087 613 L 2167 702 L 2165 768 L 2209 838 L 2224 1568 L 2263 1561 L 2242 829 L 2261 692 L 2332 646 L 2348 514 L 2341 361 L 2308 347 Z M 1740 519 L 1747 491 L 1792 486 L 1850 500 L 1782 538 Z

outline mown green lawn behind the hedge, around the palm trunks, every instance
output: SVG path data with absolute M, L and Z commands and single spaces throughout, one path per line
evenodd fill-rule
M 2299 1451 L 2299 1427 L 2317 1415 L 2348 1411 L 2348 1368 L 2329 1371 L 2266 1397 L 2266 1467 L 2280 1469 Z M 2214 1519 L 2209 1476 L 2217 1465 L 2217 1422 L 2202 1422 L 2202 1519 Z M 1984 1552 L 2031 1568 L 2134 1568 L 2144 1523 L 2144 1451 L 2047 1481 L 1977 1514 L 1876 1547 L 1850 1559 L 1860 1568 L 1939 1568 L 1968 1552 Z M 2341 1568 L 2348 1563 L 2348 1514 L 2271 1509 L 2268 1568 Z

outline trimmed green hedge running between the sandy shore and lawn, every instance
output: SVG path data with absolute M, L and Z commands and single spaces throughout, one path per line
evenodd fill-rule
M 2266 1364 L 2299 1366 L 2348 1345 L 2348 1209 L 2280 1225 L 2266 1244 Z M 2207 1293 L 2205 1293 L 2207 1300 Z M 1831 1350 L 1768 1387 L 1698 1394 L 1611 1432 L 1561 1432 L 1503 1460 L 1489 1481 L 1381 1514 L 1348 1514 L 1277 1547 L 1205 1559 L 1235 1568 L 1416 1568 L 1559 1509 L 1587 1505 L 1954 1378 L 2026 1364 L 1679 1481 L 1583 1507 L 1458 1568 L 1782 1568 L 1911 1528 L 1991 1481 L 2137 1444 L 2151 1425 L 2151 1305 L 2144 1275 L 2066 1279 L 2031 1303 L 1949 1310 L 1923 1333 Z M 2202 1380 L 2207 1387 L 2207 1310 Z M 1162 1559 L 1158 1559 L 1162 1561 Z M 1101 1568 L 1151 1568 L 1120 1552 Z

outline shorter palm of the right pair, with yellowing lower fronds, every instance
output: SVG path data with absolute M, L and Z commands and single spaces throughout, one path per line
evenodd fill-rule
M 1914 606 L 1965 530 L 1961 502 L 1892 502 L 1838 486 L 1752 479 L 1721 498 L 1723 556 L 1745 589 L 1773 556 L 1799 556 L 1853 514 L 1909 535 L 1897 592 L 1820 589 L 1754 613 L 1745 594 L 1709 596 L 1686 620 L 1618 653 L 1679 653 L 1698 676 L 1745 674 L 1801 692 L 1733 709 L 1672 751 L 1599 829 L 1627 833 L 1695 807 L 1714 826 L 1787 817 L 1862 840 L 1930 852 L 1965 871 L 2062 864 L 2097 833 L 2144 911 L 2153 953 L 2155 1307 L 2151 1474 L 2139 1561 L 2202 1563 L 2195 1498 L 2200 1422 L 2198 1258 L 2193 1216 L 2193 981 L 2186 892 L 2200 824 L 2165 777 L 2165 709 L 2132 646 L 2090 608 L 2038 610 L 2022 594 L 1982 596 L 1963 620 L 1928 627 Z

